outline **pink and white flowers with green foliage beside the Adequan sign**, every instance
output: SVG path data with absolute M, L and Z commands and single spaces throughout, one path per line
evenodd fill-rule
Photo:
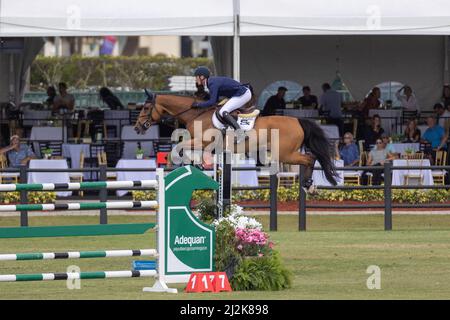
M 199 211 L 210 206 L 199 206 Z M 209 216 L 200 212 L 200 217 Z M 234 290 L 281 290 L 291 286 L 292 275 L 281 261 L 262 224 L 231 206 L 212 222 L 216 229 L 215 264 L 225 271 Z

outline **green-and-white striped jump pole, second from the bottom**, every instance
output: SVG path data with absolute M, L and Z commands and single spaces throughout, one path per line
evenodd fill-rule
M 0 254 L 0 261 L 116 258 L 116 257 L 140 257 L 140 256 L 155 257 L 157 256 L 157 250 L 138 249 L 138 250 L 12 253 L 12 254 Z

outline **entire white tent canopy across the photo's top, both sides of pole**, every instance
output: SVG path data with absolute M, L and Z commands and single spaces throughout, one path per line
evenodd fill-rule
M 233 35 L 233 2 L 2 0 L 0 36 Z M 242 36 L 450 35 L 448 0 L 239 2 Z

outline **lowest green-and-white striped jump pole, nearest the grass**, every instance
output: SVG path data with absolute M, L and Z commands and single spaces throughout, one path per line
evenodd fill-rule
M 0 275 L 0 282 L 156 277 L 156 270 L 31 273 Z

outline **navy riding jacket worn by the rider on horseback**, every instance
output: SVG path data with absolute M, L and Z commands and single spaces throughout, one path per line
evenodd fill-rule
M 194 103 L 194 107 L 208 108 L 215 105 L 220 97 L 240 97 L 247 86 L 228 77 L 209 77 L 207 80 L 210 98 L 205 102 Z

